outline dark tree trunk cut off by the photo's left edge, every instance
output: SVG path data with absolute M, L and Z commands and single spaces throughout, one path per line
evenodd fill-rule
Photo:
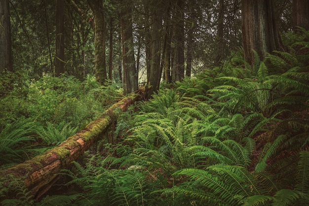
M 9 0 L 0 0 L 0 71 L 13 71 Z

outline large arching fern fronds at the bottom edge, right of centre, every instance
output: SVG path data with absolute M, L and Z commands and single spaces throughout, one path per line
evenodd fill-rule
M 186 194 L 182 195 L 203 201 L 204 204 L 210 204 L 215 200 L 214 205 L 240 206 L 245 198 L 263 192 L 254 175 L 240 166 L 218 164 L 209 166 L 206 171 L 183 169 L 174 175 L 184 175 L 189 180 L 198 182 L 207 192 L 196 194 L 194 190 L 179 190 L 179 188 L 172 188 L 172 191 L 177 193 L 186 191 Z M 213 197 L 216 198 L 212 200 Z

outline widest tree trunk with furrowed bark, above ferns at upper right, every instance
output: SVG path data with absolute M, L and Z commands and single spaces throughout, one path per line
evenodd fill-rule
M 252 50 L 264 60 L 266 53 L 281 49 L 272 0 L 242 0 L 241 24 L 244 57 L 249 64 L 254 62 Z

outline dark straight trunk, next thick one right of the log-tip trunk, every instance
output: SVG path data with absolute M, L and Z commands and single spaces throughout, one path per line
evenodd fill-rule
M 182 81 L 185 77 L 185 55 L 184 55 L 184 0 L 177 0 L 174 5 L 174 34 L 172 39 L 173 48 L 173 67 L 172 81 Z

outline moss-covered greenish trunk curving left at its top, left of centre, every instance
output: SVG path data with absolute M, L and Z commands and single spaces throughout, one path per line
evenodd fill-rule
M 87 0 L 94 18 L 94 64 L 96 80 L 104 85 L 107 79 L 105 60 L 106 24 L 103 12 L 103 0 Z

